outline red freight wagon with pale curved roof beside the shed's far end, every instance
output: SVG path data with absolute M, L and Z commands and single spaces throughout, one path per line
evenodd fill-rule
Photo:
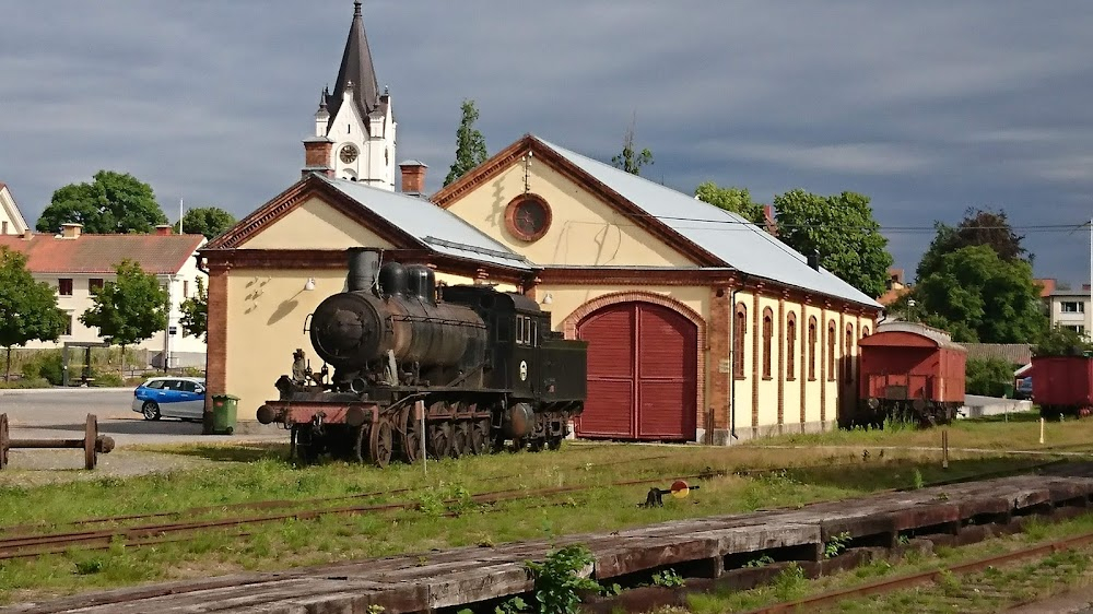
M 922 324 L 886 324 L 858 342 L 857 424 L 880 425 L 888 416 L 924 426 L 948 423 L 964 405 L 967 351 Z

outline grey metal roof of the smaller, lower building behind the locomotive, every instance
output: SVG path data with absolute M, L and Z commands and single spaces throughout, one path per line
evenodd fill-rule
M 455 213 L 425 199 L 348 179 L 331 179 L 322 175 L 316 177 L 416 238 L 422 247 L 456 258 L 524 271 L 534 270 L 534 265 L 525 257 L 497 243 Z

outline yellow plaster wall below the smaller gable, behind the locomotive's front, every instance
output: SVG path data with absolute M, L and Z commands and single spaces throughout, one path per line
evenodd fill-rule
M 304 350 L 313 369 L 322 366 L 304 332 L 304 322 L 322 299 L 344 290 L 345 274 L 246 269 L 228 273 L 225 388 L 239 397 L 239 420 L 255 420 L 265 401 L 277 399 L 273 382 L 291 373 L 295 349 Z M 449 283 L 470 283 L 467 278 L 443 276 Z M 315 280 L 314 291 L 304 290 L 308 278 Z

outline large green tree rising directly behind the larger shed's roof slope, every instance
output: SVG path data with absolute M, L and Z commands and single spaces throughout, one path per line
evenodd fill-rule
M 869 197 L 843 192 L 823 197 L 791 190 L 774 198 L 778 238 L 870 297 L 884 294 L 892 255 L 873 220 Z

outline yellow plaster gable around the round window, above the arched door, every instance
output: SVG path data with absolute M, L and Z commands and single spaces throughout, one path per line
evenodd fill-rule
M 529 244 L 514 237 L 505 227 L 505 209 L 524 193 L 524 165 L 517 163 L 461 197 L 449 211 L 538 264 L 693 264 L 539 161 L 531 164 L 530 191 L 546 200 L 553 221 L 546 234 L 537 241 Z

